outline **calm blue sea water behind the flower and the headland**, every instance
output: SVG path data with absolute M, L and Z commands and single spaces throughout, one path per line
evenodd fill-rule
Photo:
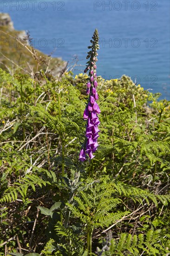
M 85 68 L 87 46 L 98 28 L 98 75 L 131 76 L 134 82 L 170 100 L 169 0 L 19 0 L 0 2 L 17 30 L 27 30 L 33 45 L 69 61 L 74 74 Z

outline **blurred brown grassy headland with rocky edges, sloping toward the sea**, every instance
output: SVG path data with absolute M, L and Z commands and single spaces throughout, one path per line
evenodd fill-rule
M 33 57 L 34 50 L 36 51 L 36 58 Z M 33 49 L 29 45 L 26 31 L 15 30 L 8 13 L 0 13 L 0 55 L 0 68 L 6 71 L 21 67 L 21 73 L 24 70 L 29 73 L 30 69 L 37 71 L 38 67 L 38 71 L 46 70 L 47 68 L 50 75 L 60 76 L 67 66 L 67 62 L 62 61 L 60 58 L 51 59 L 48 55 L 37 49 Z M 49 59 L 51 59 L 50 64 L 48 64 Z M 38 62 L 41 64 L 39 65 Z

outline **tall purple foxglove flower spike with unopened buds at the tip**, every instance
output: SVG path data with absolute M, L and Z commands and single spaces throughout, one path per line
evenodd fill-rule
M 97 56 L 97 50 L 99 49 L 98 45 L 98 30 L 96 29 L 93 36 L 91 43 L 88 48 L 91 49 L 90 52 L 88 52 L 86 59 L 90 58 L 90 61 L 87 62 L 85 73 L 89 71 L 89 78 L 87 81 L 87 90 L 86 94 L 89 95 L 88 104 L 86 105 L 85 111 L 84 111 L 84 119 L 87 120 L 86 125 L 86 132 L 85 132 L 85 145 L 84 148 L 81 149 L 79 154 L 79 160 L 84 162 L 86 154 L 89 155 L 90 159 L 94 157 L 93 153 L 98 148 L 98 132 L 100 131 L 98 129 L 98 125 L 100 124 L 100 121 L 98 120 L 98 114 L 100 114 L 100 108 L 98 106 L 98 103 L 96 102 L 98 100 L 98 93 L 97 93 L 97 73 L 96 73 L 96 62 L 98 61 Z

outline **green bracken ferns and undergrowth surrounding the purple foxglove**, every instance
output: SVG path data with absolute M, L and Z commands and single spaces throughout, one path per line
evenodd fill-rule
M 0 69 L 0 255 L 170 254 L 170 102 L 98 77 L 82 163 L 87 78 Z

